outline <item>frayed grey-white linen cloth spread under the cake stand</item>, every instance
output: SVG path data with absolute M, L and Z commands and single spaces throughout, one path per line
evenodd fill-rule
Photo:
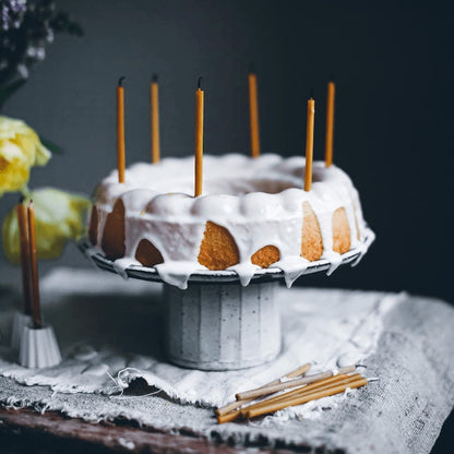
M 405 294 L 279 288 L 276 298 L 282 355 L 258 368 L 205 372 L 166 362 L 160 285 L 57 268 L 41 282 L 41 300 L 64 359 L 44 370 L 14 362 L 8 347 L 14 297 L 3 296 L 0 403 L 96 421 L 121 417 L 237 443 L 260 439 L 358 453 L 429 452 L 454 405 L 454 310 Z M 258 421 L 216 425 L 213 407 L 238 391 L 303 362 L 315 362 L 316 370 L 350 360 L 366 363 L 365 374 L 380 380 Z M 138 379 L 154 386 L 145 393 L 162 392 L 122 394 Z

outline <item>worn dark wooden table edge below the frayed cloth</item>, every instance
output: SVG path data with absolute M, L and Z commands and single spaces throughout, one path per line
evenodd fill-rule
M 258 443 L 234 447 L 206 439 L 183 434 L 168 434 L 124 423 L 85 422 L 67 418 L 57 411 L 38 414 L 28 409 L 0 408 L 0 452 L 20 453 L 211 453 L 238 452 L 278 453 L 310 452 L 306 446 L 267 450 Z M 10 447 L 9 447 L 10 446 Z M 295 449 L 295 450 L 294 450 Z M 35 451 L 38 450 L 38 451 Z M 336 453 L 337 454 L 337 453 Z

